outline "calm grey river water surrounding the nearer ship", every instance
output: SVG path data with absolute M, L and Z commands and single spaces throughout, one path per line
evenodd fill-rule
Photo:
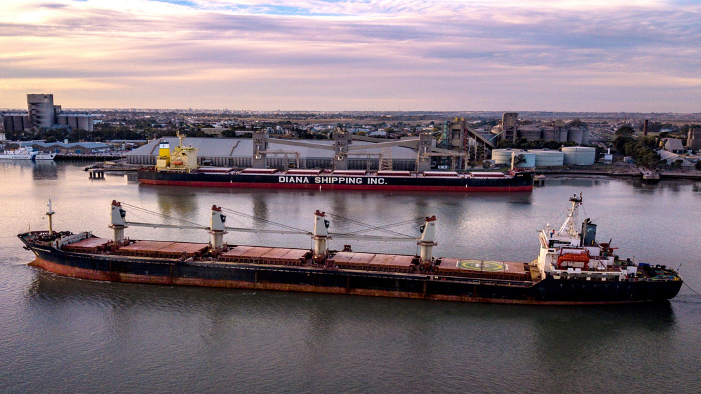
M 512 306 L 104 283 L 27 266 L 15 234 L 46 228 L 109 237 L 116 199 L 207 224 L 212 204 L 254 215 L 227 224 L 311 230 L 317 209 L 418 235 L 437 215 L 435 254 L 528 261 L 536 230 L 559 225 L 584 194 L 581 219 L 637 261 L 681 265 L 701 290 L 701 183 L 548 179 L 533 193 L 374 193 L 175 189 L 122 175 L 90 180 L 86 163 L 0 162 L 2 393 L 698 393 L 701 299 L 665 304 Z M 156 217 L 128 209 L 132 221 Z M 207 242 L 205 231 L 130 227 L 132 238 Z M 230 243 L 309 247 L 298 236 L 230 233 Z M 409 243 L 354 250 L 414 252 Z M 332 248 L 342 243 L 332 241 Z

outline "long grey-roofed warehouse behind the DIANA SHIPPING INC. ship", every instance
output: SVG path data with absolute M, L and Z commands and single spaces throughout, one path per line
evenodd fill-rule
M 163 137 L 153 140 L 142 147 L 127 153 L 127 163 L 155 165 L 158 156 L 158 143 L 167 140 L 171 149 L 177 147 L 177 137 Z M 322 144 L 331 147 L 332 140 L 295 140 Z M 392 158 L 394 170 L 415 170 L 417 153 L 406 147 L 372 148 L 372 142 L 353 141 L 353 145 L 367 144 L 368 149 L 348 153 L 349 170 L 376 170 L 379 168 L 381 156 Z M 250 138 L 203 138 L 186 137 L 183 145 L 191 145 L 199 149 L 197 152 L 199 165 L 215 165 L 220 167 L 251 168 L 253 167 L 253 145 Z M 278 144 L 268 140 L 266 161 L 268 168 L 332 168 L 333 149 L 313 147 L 294 147 Z

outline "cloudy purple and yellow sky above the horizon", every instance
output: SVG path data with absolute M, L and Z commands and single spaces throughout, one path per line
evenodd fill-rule
M 701 112 L 701 1 L 0 0 L 0 108 Z

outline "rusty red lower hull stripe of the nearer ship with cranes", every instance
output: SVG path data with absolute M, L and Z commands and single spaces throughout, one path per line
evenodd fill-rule
M 314 285 L 295 285 L 289 283 L 252 283 L 241 280 L 217 280 L 202 278 L 175 278 L 166 276 L 137 275 L 134 273 L 104 272 L 92 269 L 81 269 L 64 266 L 51 261 L 36 258 L 29 265 L 36 266 L 49 272 L 71 278 L 91 280 L 107 280 L 111 282 L 149 283 L 153 285 L 186 285 L 204 287 L 228 287 L 236 289 L 279 290 L 286 292 L 315 292 L 328 294 L 351 294 L 373 297 L 395 297 L 411 299 L 431 299 L 440 301 L 483 302 L 491 304 L 537 304 L 537 305 L 601 305 L 601 304 L 630 304 L 644 301 L 615 301 L 615 302 L 573 302 L 573 301 L 538 301 L 535 299 L 491 299 L 484 297 L 451 296 L 446 294 L 428 294 L 412 292 L 393 292 L 390 290 L 348 289 L 346 287 L 320 287 Z

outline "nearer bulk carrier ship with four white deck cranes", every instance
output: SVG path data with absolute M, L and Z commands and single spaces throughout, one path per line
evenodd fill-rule
M 672 269 L 620 259 L 610 243 L 597 243 L 589 219 L 578 231 L 580 196 L 559 228 L 538 233 L 540 252 L 529 262 L 434 257 L 437 219 L 426 217 L 421 236 L 361 236 L 329 232 L 329 217 L 317 211 L 313 232 L 240 229 L 225 225 L 228 210 L 212 207 L 210 226 L 128 222 L 125 204 L 111 204 L 113 239 L 90 231 L 20 233 L 36 255 L 32 266 L 62 276 L 163 285 L 237 287 L 509 304 L 609 304 L 672 299 L 682 280 Z M 135 207 L 137 208 L 137 207 Z M 231 211 L 233 212 L 233 211 Z M 132 240 L 128 226 L 203 229 L 210 243 Z M 386 228 L 387 226 L 382 226 Z M 311 237 L 313 248 L 260 247 L 224 243 L 227 232 L 294 233 Z M 336 239 L 404 240 L 418 254 L 355 252 L 351 245 L 329 250 Z

